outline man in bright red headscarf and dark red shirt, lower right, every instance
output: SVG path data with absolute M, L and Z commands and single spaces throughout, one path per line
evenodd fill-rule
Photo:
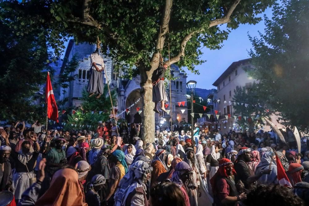
M 238 201 L 246 198 L 244 193 L 237 195 L 234 178 L 235 169 L 231 160 L 222 158 L 219 161 L 219 169 L 210 179 L 216 206 L 235 206 Z

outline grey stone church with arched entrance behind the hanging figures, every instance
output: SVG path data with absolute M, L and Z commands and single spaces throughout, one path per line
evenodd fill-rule
M 57 94 L 55 95 L 57 99 L 63 100 L 68 98 L 68 102 L 64 105 L 64 107 L 69 106 L 79 106 L 81 105 L 81 100 L 79 98 L 82 97 L 82 91 L 86 90 L 87 84 L 89 81 L 89 69 L 90 69 L 90 54 L 95 51 L 96 45 L 95 44 L 75 44 L 74 40 L 70 40 L 68 46 L 66 48 L 66 52 L 64 55 L 64 59 L 61 62 L 61 69 L 59 73 L 63 72 L 65 65 L 68 61 L 72 59 L 75 55 L 79 61 L 79 66 L 76 68 L 74 72 L 71 73 L 71 76 L 75 76 L 75 79 L 69 82 L 68 88 L 57 88 Z M 102 55 L 102 54 L 101 54 Z M 117 73 L 113 69 L 113 61 L 110 57 L 102 55 L 104 59 L 105 71 L 107 72 L 107 78 L 104 74 L 104 84 L 109 82 L 110 89 L 114 89 L 117 91 L 117 105 L 116 108 L 118 109 L 118 114 L 122 111 L 125 111 L 126 108 L 130 107 L 134 104 L 138 99 L 136 104 L 129 108 L 129 114 L 126 112 L 121 113 L 118 118 L 125 118 L 128 122 L 139 122 L 141 120 L 141 115 L 137 112 L 137 107 L 140 107 L 142 110 L 142 98 L 140 95 L 140 76 L 130 79 L 119 78 L 119 73 L 122 74 L 125 71 L 119 71 Z M 172 108 L 170 106 L 170 100 L 168 101 L 168 110 L 172 109 L 173 111 L 170 113 L 172 114 L 173 121 L 179 120 L 181 121 L 183 118 L 187 121 L 187 110 L 182 113 L 181 109 L 187 109 L 187 104 L 185 103 L 184 106 L 178 106 L 177 102 L 186 101 L 186 78 L 187 76 L 184 73 L 179 71 L 179 68 L 176 65 L 171 66 L 171 73 L 174 77 L 177 77 L 176 80 L 171 81 L 171 99 L 172 99 Z M 107 81 L 108 80 L 108 81 Z M 167 82 L 169 83 L 169 82 Z M 167 85 L 169 88 L 169 84 Z M 169 95 L 169 90 L 166 90 Z M 158 106 L 159 107 L 159 106 Z M 166 123 L 170 119 L 170 115 L 167 113 L 161 112 L 161 114 L 155 115 L 155 122 L 159 123 L 160 117 L 166 119 Z

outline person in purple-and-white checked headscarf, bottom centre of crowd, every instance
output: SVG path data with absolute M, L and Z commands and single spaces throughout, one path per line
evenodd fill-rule
M 188 195 L 187 182 L 190 178 L 192 178 L 192 167 L 188 165 L 187 162 L 179 162 L 177 163 L 175 170 L 172 175 L 171 181 L 178 184 L 183 195 L 186 206 L 190 206 L 190 200 Z

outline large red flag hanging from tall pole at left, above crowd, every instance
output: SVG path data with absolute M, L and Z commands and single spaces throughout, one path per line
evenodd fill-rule
M 47 117 L 58 122 L 58 108 L 53 93 L 52 82 L 50 82 L 49 72 L 47 72 L 45 97 L 47 103 Z

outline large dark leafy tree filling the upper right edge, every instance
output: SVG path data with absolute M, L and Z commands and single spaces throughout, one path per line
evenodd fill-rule
M 281 113 L 283 124 L 305 131 L 309 125 L 309 2 L 283 0 L 273 6 L 273 17 L 265 16 L 265 35 L 249 36 L 254 68 L 248 74 L 258 79 L 258 95 L 273 111 Z

